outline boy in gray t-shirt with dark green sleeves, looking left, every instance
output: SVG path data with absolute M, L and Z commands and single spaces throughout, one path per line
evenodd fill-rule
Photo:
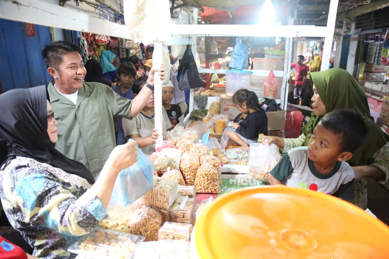
M 368 129 L 354 110 L 334 110 L 314 129 L 308 147 L 289 150 L 270 171 L 270 184 L 354 198 L 354 170 L 345 161 L 365 140 Z

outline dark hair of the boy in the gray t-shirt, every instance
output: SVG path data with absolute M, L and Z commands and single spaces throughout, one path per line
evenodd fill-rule
M 350 109 L 338 109 L 324 115 L 319 124 L 340 140 L 340 152 L 354 152 L 366 141 L 368 128 L 361 114 Z

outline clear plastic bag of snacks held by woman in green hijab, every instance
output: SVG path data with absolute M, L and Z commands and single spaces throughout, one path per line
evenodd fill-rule
M 268 181 L 269 172 L 280 161 L 279 148 L 275 144 L 263 145 L 261 143 L 250 144 L 249 162 L 247 166 L 251 176 L 260 181 Z

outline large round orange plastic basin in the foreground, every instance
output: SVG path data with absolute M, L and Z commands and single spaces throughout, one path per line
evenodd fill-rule
M 202 259 L 389 258 L 389 228 L 310 190 L 261 186 L 217 198 L 196 224 Z

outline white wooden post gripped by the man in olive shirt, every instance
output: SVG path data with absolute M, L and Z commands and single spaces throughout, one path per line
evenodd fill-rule
M 152 67 L 160 68 L 162 64 L 162 43 L 154 43 L 154 52 L 152 55 Z M 165 75 L 169 77 L 169 75 Z M 154 120 L 155 128 L 158 130 L 158 141 L 163 140 L 162 136 L 162 81 L 158 73 L 154 74 Z

